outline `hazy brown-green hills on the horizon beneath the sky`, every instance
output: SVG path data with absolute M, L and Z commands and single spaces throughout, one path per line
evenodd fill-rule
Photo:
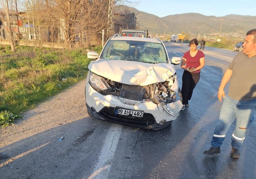
M 185 32 L 191 35 L 219 34 L 230 36 L 244 36 L 245 33 L 256 27 L 256 16 L 226 15 L 224 17 L 205 16 L 199 13 L 184 13 L 158 17 L 135 8 L 127 7 L 136 14 L 140 29 L 148 29 L 154 34 L 178 34 Z

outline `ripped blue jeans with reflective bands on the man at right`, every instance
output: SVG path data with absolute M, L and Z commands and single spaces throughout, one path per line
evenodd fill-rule
M 255 110 L 256 99 L 237 101 L 226 95 L 221 106 L 219 121 L 212 137 L 212 147 L 221 146 L 226 132 L 236 118 L 236 126 L 232 134 L 231 145 L 233 148 L 240 148 L 244 142 L 246 131 L 253 121 Z

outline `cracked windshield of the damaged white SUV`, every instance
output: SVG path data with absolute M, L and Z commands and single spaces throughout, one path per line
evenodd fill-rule
M 110 40 L 100 58 L 144 63 L 168 63 L 164 46 L 160 43 Z

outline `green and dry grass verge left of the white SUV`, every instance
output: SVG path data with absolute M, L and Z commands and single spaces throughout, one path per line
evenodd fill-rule
M 0 58 L 0 125 L 12 124 L 15 115 L 32 109 L 87 75 L 90 60 L 86 49 L 35 52 L 33 57 Z M 5 117 L 1 118 L 1 113 Z M 14 117 L 9 122 L 7 114 Z

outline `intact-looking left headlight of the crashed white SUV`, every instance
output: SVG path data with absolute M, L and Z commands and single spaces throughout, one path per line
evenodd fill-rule
M 93 88 L 101 91 L 111 90 L 112 88 L 108 85 L 103 77 L 100 77 L 90 71 L 89 83 Z

